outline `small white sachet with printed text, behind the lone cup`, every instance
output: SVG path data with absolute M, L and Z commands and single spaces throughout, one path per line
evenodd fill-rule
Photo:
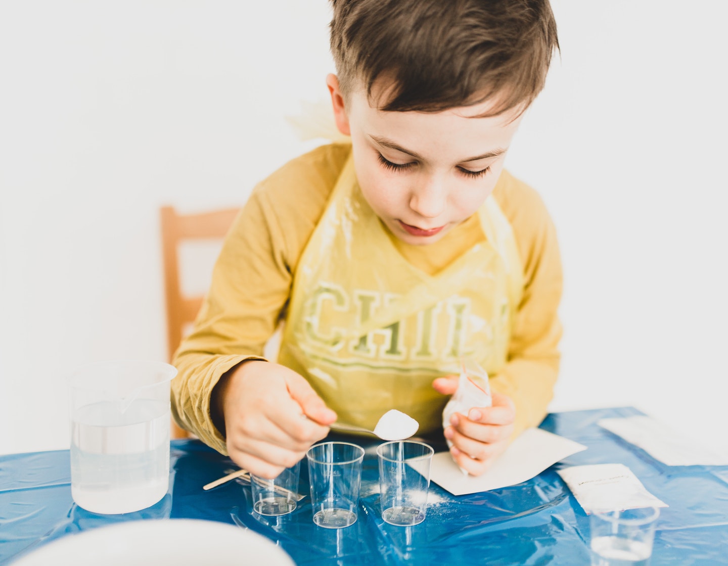
M 668 506 L 649 493 L 633 471 L 624 464 L 571 466 L 557 473 L 569 486 L 587 515 L 594 512 Z

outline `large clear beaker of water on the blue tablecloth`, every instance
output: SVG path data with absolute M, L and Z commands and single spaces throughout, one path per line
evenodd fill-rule
M 170 380 L 162 362 L 98 362 L 71 384 L 71 495 L 94 513 L 154 505 L 170 479 Z

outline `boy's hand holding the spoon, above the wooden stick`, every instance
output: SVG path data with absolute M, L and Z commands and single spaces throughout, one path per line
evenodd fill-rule
M 336 420 L 308 381 L 280 364 L 250 360 L 224 379 L 215 394 L 227 450 L 256 476 L 274 478 L 293 466 Z

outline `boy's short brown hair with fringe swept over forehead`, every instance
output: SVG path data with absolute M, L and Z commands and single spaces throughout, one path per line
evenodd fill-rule
M 383 111 L 438 112 L 493 100 L 525 109 L 544 86 L 556 23 L 548 0 L 331 0 L 341 92 L 377 79 Z

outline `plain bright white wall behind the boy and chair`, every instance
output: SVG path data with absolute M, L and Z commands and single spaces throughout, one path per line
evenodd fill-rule
M 728 10 L 553 8 L 561 59 L 509 156 L 561 239 L 553 409 L 634 404 L 728 446 Z M 284 116 L 326 95 L 329 17 L 325 0 L 0 4 L 0 453 L 68 446 L 74 367 L 166 358 L 158 207 L 240 205 L 310 147 Z

